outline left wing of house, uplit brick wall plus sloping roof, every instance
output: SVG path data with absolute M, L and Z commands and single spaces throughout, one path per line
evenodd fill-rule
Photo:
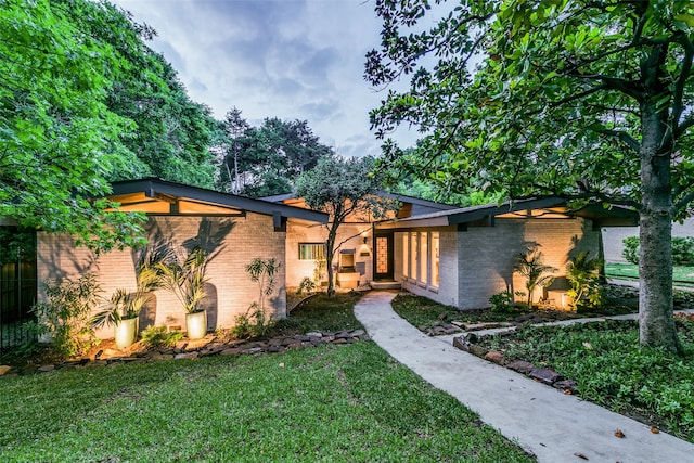
M 187 187 L 158 179 L 142 179 L 113 184 L 111 200 L 120 210 L 146 213 L 145 249 L 113 250 L 95 255 L 77 247 L 65 235 L 39 232 L 37 236 L 37 275 L 39 300 L 41 282 L 57 278 L 76 279 L 91 272 L 105 295 L 117 288 L 134 291 L 136 263 L 142 253 L 162 246 L 179 255 L 194 247 L 209 255 L 205 287 L 208 330 L 234 324 L 258 300 L 258 286 L 252 283 L 246 265 L 259 257 L 280 263 L 278 284 L 267 298 L 275 318 L 286 316 L 284 281 L 288 265 L 286 230 L 301 230 L 327 221 L 322 213 L 273 204 L 216 191 Z M 140 317 L 140 327 L 147 325 L 185 326 L 180 303 L 169 292 L 157 290 Z M 111 330 L 98 333 L 112 337 Z

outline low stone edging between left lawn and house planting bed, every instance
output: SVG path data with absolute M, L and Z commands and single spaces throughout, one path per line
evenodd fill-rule
M 129 349 L 102 349 L 91 357 L 69 360 L 56 364 L 11 368 L 0 365 L 0 376 L 20 376 L 37 373 L 49 373 L 59 370 L 86 369 L 94 366 L 110 366 L 119 363 L 147 363 L 162 360 L 194 360 L 214 356 L 240 356 L 279 353 L 301 347 L 318 347 L 324 344 L 354 344 L 371 339 L 364 330 L 348 330 L 336 333 L 310 332 L 294 336 L 273 337 L 264 340 L 232 340 L 222 342 L 215 335 L 194 342 L 183 339 L 176 347 L 155 347 L 149 350 L 138 349 L 138 344 Z M 140 346 L 141 347 L 141 346 Z

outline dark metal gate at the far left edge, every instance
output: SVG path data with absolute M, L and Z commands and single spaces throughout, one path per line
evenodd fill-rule
M 8 349 L 33 339 L 25 323 L 33 319 L 31 306 L 36 303 L 36 239 L 35 233 L 21 236 L 14 228 L 3 227 L 0 252 L 0 357 Z M 12 243 L 8 241 L 12 239 Z M 21 244 L 21 245 L 20 245 Z M 14 258 L 10 260 L 9 255 Z M 2 263 L 4 262 L 4 263 Z

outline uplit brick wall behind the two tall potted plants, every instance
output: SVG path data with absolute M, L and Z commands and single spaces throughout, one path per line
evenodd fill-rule
M 274 257 L 282 265 L 275 290 L 266 298 L 266 307 L 275 318 L 286 317 L 285 233 L 274 232 L 272 217 L 253 213 L 231 218 L 153 216 L 146 230 L 150 246 L 166 243 L 180 255 L 185 255 L 185 248 L 195 245 L 208 250 L 211 259 L 207 266 L 208 297 L 204 306 L 209 330 L 232 326 L 235 316 L 245 312 L 258 299 L 259 288 L 245 271 L 245 266 L 256 257 Z M 46 299 L 41 282 L 56 278 L 77 279 L 86 272 L 97 274 L 105 296 L 119 287 L 134 291 L 139 255 L 126 249 L 95 256 L 87 248 L 75 247 L 65 235 L 38 233 L 39 300 Z M 153 300 L 140 316 L 140 329 L 152 324 L 185 329 L 184 311 L 172 294 L 163 290 L 154 293 Z M 113 337 L 113 330 L 101 330 L 98 336 Z

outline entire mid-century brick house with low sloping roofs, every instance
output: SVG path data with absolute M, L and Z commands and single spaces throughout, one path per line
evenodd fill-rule
M 331 262 L 338 287 L 390 282 L 461 309 L 488 307 L 496 293 L 522 291 L 525 282 L 514 274 L 513 263 L 528 244 L 540 245 L 543 262 L 561 276 L 574 253 L 602 255 L 601 228 L 637 221 L 627 209 L 600 205 L 571 209 L 555 197 L 458 208 L 380 194 L 397 200 L 399 207 L 385 220 L 351 217 L 340 227 Z M 87 272 L 97 275 L 106 295 L 117 288 L 133 291 L 137 262 L 144 253 L 159 248 L 185 255 L 201 247 L 209 255 L 208 330 L 232 326 L 236 316 L 258 300 L 257 284 L 245 270 L 255 258 L 274 258 L 281 266 L 268 297 L 269 314 L 275 318 L 286 316 L 286 293 L 301 280 L 325 279 L 330 218 L 307 208 L 301 198 L 253 200 L 154 178 L 114 183 L 110 198 L 120 203 L 121 210 L 147 215 L 147 248 L 95 255 L 65 235 L 39 232 L 39 300 L 44 298 L 41 282 Z M 560 306 L 565 305 L 561 291 L 549 295 Z M 162 290 L 154 296 L 141 313 L 140 327 L 184 326 L 184 312 L 175 296 Z M 108 337 L 111 331 L 98 335 Z

